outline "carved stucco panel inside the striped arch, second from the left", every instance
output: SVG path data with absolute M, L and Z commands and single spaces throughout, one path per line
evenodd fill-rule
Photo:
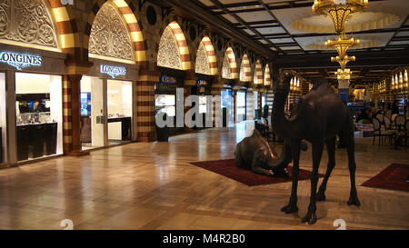
M 94 55 L 135 60 L 128 29 L 113 5 L 103 5 L 96 14 L 88 51 Z

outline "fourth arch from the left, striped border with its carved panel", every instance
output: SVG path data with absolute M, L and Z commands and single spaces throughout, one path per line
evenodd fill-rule
M 195 72 L 200 74 L 217 74 L 217 61 L 210 38 L 205 36 L 197 49 Z

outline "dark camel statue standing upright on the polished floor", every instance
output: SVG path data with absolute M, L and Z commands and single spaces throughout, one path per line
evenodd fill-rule
M 297 184 L 299 174 L 300 144 L 304 139 L 313 146 L 313 173 L 311 174 L 311 197 L 308 212 L 303 218 L 303 223 L 316 222 L 316 201 L 325 200 L 325 189 L 328 178 L 335 166 L 335 141 L 336 134 L 344 138 L 348 154 L 348 166 L 351 179 L 351 192 L 348 205 L 359 206 L 355 186 L 355 158 L 354 158 L 354 124 L 347 107 L 334 93 L 333 88 L 327 83 L 314 84 L 313 89 L 302 96 L 294 109 L 294 114 L 287 119 L 284 116 L 284 105 L 289 92 L 292 75 L 286 74 L 282 83 L 276 84 L 272 124 L 275 134 L 291 141 L 291 154 L 293 157 L 293 186 L 290 203 L 282 208 L 284 213 L 295 213 L 297 207 Z M 324 181 L 318 193 L 318 167 L 321 162 L 324 144 L 328 152 L 328 164 Z

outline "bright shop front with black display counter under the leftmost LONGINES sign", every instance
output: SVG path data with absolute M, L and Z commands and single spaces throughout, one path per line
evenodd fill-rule
M 62 92 L 61 75 L 15 73 L 18 161 L 63 154 Z

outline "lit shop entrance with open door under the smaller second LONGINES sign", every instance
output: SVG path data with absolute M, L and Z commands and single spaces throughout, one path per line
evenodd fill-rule
M 81 141 L 83 149 L 132 140 L 132 82 L 83 76 Z

